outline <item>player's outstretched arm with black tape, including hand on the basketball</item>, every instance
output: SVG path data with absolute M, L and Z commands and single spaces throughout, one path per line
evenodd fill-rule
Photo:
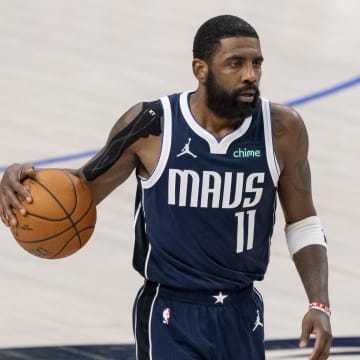
M 143 174 L 151 173 L 157 160 L 156 154 L 150 157 L 139 154 L 146 153 L 146 148 L 152 147 L 153 139 L 159 138 L 161 116 L 158 101 L 133 106 L 115 123 L 98 154 L 80 169 L 66 169 L 89 185 L 96 204 L 121 185 L 135 168 Z M 21 200 L 31 202 L 32 198 L 22 181 L 34 177 L 37 171 L 29 163 L 13 164 L 3 174 L 0 182 L 0 217 L 6 226 L 16 224 L 13 209 L 26 214 Z

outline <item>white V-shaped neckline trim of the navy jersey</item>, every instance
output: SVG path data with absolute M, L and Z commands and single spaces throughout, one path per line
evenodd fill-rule
M 185 121 L 188 123 L 190 128 L 201 138 L 203 138 L 210 147 L 210 153 L 211 154 L 221 154 L 225 155 L 227 153 L 227 150 L 231 143 L 240 138 L 242 135 L 246 133 L 246 131 L 249 129 L 252 116 L 247 117 L 240 127 L 238 127 L 236 130 L 232 131 L 231 133 L 224 136 L 221 140 L 218 140 L 213 134 L 211 134 L 209 131 L 204 129 L 194 118 L 194 116 L 191 113 L 188 97 L 189 97 L 190 91 L 184 92 L 180 95 L 180 108 L 181 112 L 184 115 Z

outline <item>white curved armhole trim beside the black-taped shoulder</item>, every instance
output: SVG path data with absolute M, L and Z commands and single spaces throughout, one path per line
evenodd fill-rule
M 171 149 L 172 112 L 171 112 L 170 100 L 167 96 L 165 96 L 161 98 L 160 101 L 163 107 L 163 127 L 164 127 L 162 142 L 161 142 L 161 150 L 160 150 L 159 160 L 150 177 L 148 177 L 147 179 L 140 178 L 143 189 L 151 188 L 160 179 L 162 173 L 165 170 Z

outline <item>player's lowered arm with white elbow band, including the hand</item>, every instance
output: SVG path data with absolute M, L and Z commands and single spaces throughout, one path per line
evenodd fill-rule
M 299 114 L 281 105 L 273 106 L 273 124 L 281 168 L 278 194 L 290 253 L 309 303 L 329 307 L 326 240 L 312 200 L 307 131 Z M 316 336 L 310 359 L 327 359 L 332 341 L 330 317 L 316 306 L 304 316 L 301 347 L 307 346 L 310 334 Z

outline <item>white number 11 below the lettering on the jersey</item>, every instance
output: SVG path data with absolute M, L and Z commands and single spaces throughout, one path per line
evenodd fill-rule
M 245 250 L 251 250 L 254 246 L 255 213 L 256 210 L 240 211 L 235 213 L 235 216 L 237 217 L 237 253 L 242 253 Z M 246 249 L 245 227 L 247 228 Z

